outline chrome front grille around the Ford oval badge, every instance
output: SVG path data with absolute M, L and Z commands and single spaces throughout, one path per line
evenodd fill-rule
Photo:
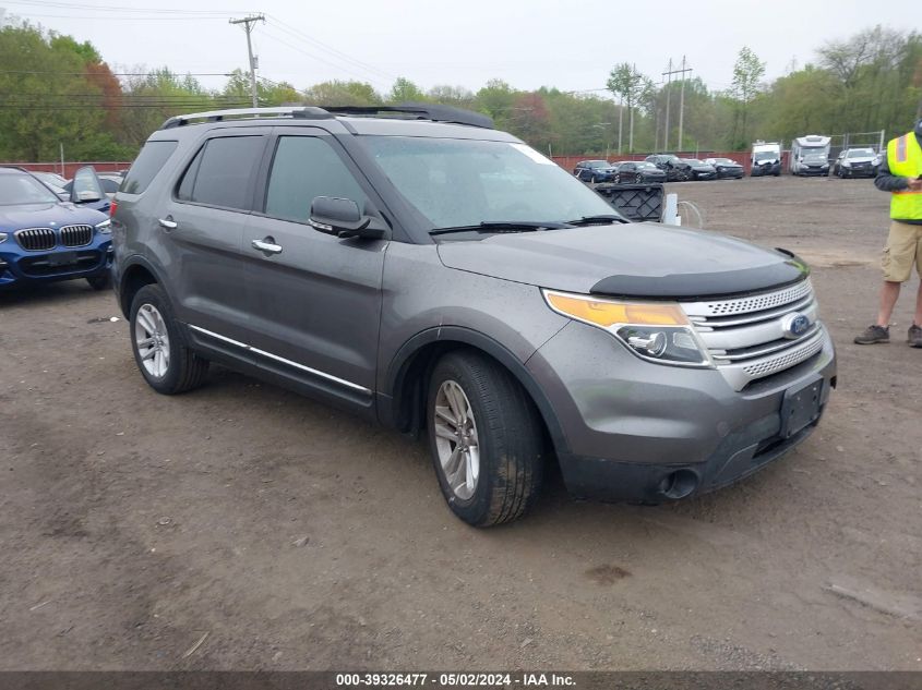
M 733 300 L 688 302 L 688 315 L 718 370 L 735 390 L 805 362 L 823 349 L 823 324 L 810 280 Z M 793 335 L 791 315 L 809 326 Z

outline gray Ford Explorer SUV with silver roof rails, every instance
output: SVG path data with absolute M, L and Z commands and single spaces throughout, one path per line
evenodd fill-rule
M 803 262 L 627 223 L 472 112 L 172 118 L 113 206 L 151 387 L 219 362 L 426 433 L 475 525 L 523 515 L 549 462 L 603 500 L 723 486 L 801 443 L 836 385 Z

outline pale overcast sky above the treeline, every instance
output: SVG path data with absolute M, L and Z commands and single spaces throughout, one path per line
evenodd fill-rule
M 299 89 L 359 80 L 382 93 L 404 76 L 423 88 L 477 90 L 501 78 L 604 96 L 614 64 L 634 62 L 660 82 L 683 56 L 691 76 L 719 90 L 743 46 L 770 81 L 815 61 L 825 41 L 875 24 L 922 29 L 919 0 L 0 0 L 0 9 L 7 22 L 92 41 L 115 71 L 168 66 L 212 88 L 247 69 L 246 34 L 228 20 L 264 13 L 253 28 L 260 76 Z

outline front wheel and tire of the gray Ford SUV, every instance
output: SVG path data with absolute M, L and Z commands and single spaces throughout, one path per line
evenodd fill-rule
M 541 425 L 506 370 L 474 352 L 446 354 L 430 378 L 427 417 L 439 485 L 458 518 L 491 526 L 535 503 L 543 474 Z

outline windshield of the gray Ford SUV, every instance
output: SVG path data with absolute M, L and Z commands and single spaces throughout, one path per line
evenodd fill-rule
M 616 213 L 525 144 L 405 136 L 361 140 L 433 229 Z

